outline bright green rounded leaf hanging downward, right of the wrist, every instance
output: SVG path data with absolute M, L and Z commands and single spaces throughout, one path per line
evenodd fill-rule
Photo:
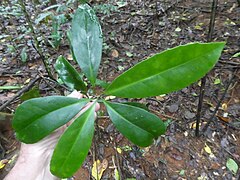
M 95 104 L 78 117 L 60 138 L 51 160 L 51 172 L 72 176 L 84 162 L 94 134 Z

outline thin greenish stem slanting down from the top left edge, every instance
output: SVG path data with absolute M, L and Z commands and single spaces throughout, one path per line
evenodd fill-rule
M 23 13 L 24 13 L 24 16 L 25 16 L 25 18 L 26 18 L 26 21 L 27 21 L 27 23 L 28 23 L 28 26 L 29 26 L 29 28 L 30 28 L 30 30 L 31 30 L 31 33 L 32 33 L 32 35 L 33 35 L 34 47 L 35 47 L 37 53 L 39 54 L 39 56 L 40 56 L 41 59 L 42 59 L 42 62 L 43 62 L 43 64 L 44 64 L 44 67 L 45 67 L 45 69 L 46 69 L 46 71 L 47 71 L 48 76 L 49 76 L 50 78 L 54 79 L 54 78 L 53 78 L 53 75 L 52 75 L 52 73 L 51 73 L 51 69 L 50 69 L 50 67 L 49 67 L 48 60 L 47 60 L 47 58 L 43 55 L 42 49 L 41 49 L 40 46 L 39 46 L 39 41 L 37 40 L 37 36 L 36 36 L 35 30 L 34 30 L 34 28 L 33 28 L 33 24 L 32 24 L 32 21 L 31 21 L 31 19 L 30 19 L 30 16 L 29 16 L 29 14 L 28 14 L 28 12 L 27 12 L 27 10 L 26 10 L 26 6 L 25 6 L 23 0 L 18 0 L 18 2 L 19 2 L 19 4 L 20 4 L 20 6 L 21 6 L 21 9 L 22 9 L 22 11 L 23 11 Z

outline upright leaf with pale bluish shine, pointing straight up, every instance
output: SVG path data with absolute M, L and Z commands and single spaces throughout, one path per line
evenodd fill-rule
M 77 9 L 71 28 L 72 47 L 84 74 L 95 84 L 102 56 L 102 31 L 97 16 L 88 4 Z

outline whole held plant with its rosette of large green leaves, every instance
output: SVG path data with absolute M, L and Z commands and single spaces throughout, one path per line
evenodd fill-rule
M 178 46 L 136 64 L 107 84 L 97 79 L 103 40 L 99 21 L 88 4 L 76 10 L 68 38 L 73 57 L 87 80 L 84 82 L 63 56 L 57 59 L 55 69 L 69 88 L 92 98 L 31 99 L 17 108 L 12 122 L 20 141 L 35 143 L 76 118 L 61 136 L 51 160 L 51 172 L 61 178 L 70 177 L 79 169 L 91 147 L 96 103 L 78 115 L 88 102 L 104 104 L 112 123 L 126 138 L 138 146 L 149 146 L 165 133 L 163 121 L 139 103 L 116 103 L 105 97 L 145 98 L 180 90 L 210 71 L 225 45 L 216 42 Z M 103 89 L 100 94 L 93 93 L 97 86 Z

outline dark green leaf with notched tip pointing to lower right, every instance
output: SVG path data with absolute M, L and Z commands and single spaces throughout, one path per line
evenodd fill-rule
M 149 146 L 154 138 L 165 133 L 162 120 L 144 109 L 107 101 L 104 104 L 113 124 L 134 144 Z

